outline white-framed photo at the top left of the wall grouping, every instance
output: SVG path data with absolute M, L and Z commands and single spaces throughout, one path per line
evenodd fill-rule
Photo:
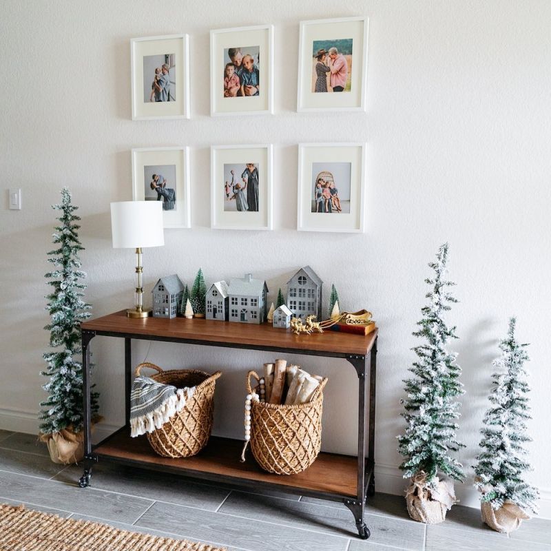
M 132 120 L 189 118 L 189 36 L 130 41 Z

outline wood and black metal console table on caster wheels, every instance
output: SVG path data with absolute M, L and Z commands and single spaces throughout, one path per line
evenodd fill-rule
M 373 477 L 375 444 L 375 380 L 377 331 L 352 335 L 336 331 L 295 335 L 270 324 L 241 324 L 194 318 L 127 318 L 125 311 L 81 324 L 83 349 L 85 469 L 79 486 L 90 486 L 92 465 L 100 459 L 195 479 L 252 490 L 269 489 L 331 501 L 341 501 L 352 512 L 358 534 L 370 536 L 364 521 L 366 498 L 375 492 Z M 125 340 L 126 424 L 99 444 L 92 445 L 90 410 L 90 342 L 96 335 Z M 342 358 L 358 377 L 357 456 L 320 453 L 313 465 L 298 475 L 272 475 L 251 459 L 239 461 L 242 441 L 211 436 L 194 457 L 171 459 L 156 455 L 146 437 L 131 438 L 130 389 L 132 386 L 132 339 L 179 342 L 230 349 L 262 350 Z M 340 366 L 335 366 L 340 368 Z M 369 381 L 366 382 L 366 379 Z M 331 378 L 329 380 L 331 384 Z M 245 396 L 245 386 L 242 388 Z M 367 400 L 367 393 L 369 397 Z M 367 405 L 369 412 L 367 415 Z M 215 411 L 215 415 L 220 412 Z

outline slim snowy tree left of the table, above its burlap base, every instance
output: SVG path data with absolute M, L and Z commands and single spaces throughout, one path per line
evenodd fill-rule
M 81 282 L 86 274 L 81 270 L 79 251 L 83 250 L 79 241 L 75 222 L 80 220 L 71 203 L 70 191 L 61 190 L 61 204 L 52 205 L 61 211 L 57 218 L 61 224 L 55 227 L 53 242 L 58 248 L 50 251 L 48 262 L 54 269 L 45 274 L 52 293 L 46 296 L 50 302 L 46 309 L 50 312 L 50 323 L 44 329 L 50 331 L 50 346 L 54 351 L 43 355 L 48 368 L 41 373 L 50 377 L 43 385 L 49 394 L 41 402 L 43 410 L 39 419 L 43 422 L 40 430 L 48 435 L 69 428 L 79 433 L 83 427 L 83 371 L 81 362 L 81 321 L 90 318 L 92 306 L 83 301 L 86 285 Z M 92 417 L 98 413 L 98 393 L 91 395 Z

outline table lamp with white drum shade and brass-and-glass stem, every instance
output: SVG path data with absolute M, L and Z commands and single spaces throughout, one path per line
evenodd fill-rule
M 136 249 L 136 307 L 126 311 L 129 318 L 147 318 L 143 307 L 142 248 L 165 245 L 162 201 L 121 201 L 111 203 L 111 233 L 114 249 Z

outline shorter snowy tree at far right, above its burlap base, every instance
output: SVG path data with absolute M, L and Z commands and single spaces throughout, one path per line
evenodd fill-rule
M 526 428 L 526 420 L 531 418 L 530 388 L 524 369 L 529 360 L 528 345 L 514 337 L 515 324 L 511 318 L 507 337 L 499 341 L 501 356 L 493 362 L 497 371 L 492 375 L 491 406 L 481 430 L 483 451 L 477 457 L 475 486 L 482 492 L 481 501 L 489 502 L 494 509 L 512 501 L 525 511 L 537 512 L 539 492 L 525 480 L 530 465 L 523 446 L 532 440 Z

